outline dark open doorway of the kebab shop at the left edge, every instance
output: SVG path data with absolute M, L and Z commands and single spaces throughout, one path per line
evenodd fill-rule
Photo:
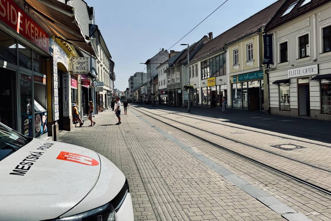
M 0 122 L 10 128 L 18 131 L 16 125 L 16 77 L 15 72 L 0 68 L 1 81 L 0 81 Z

